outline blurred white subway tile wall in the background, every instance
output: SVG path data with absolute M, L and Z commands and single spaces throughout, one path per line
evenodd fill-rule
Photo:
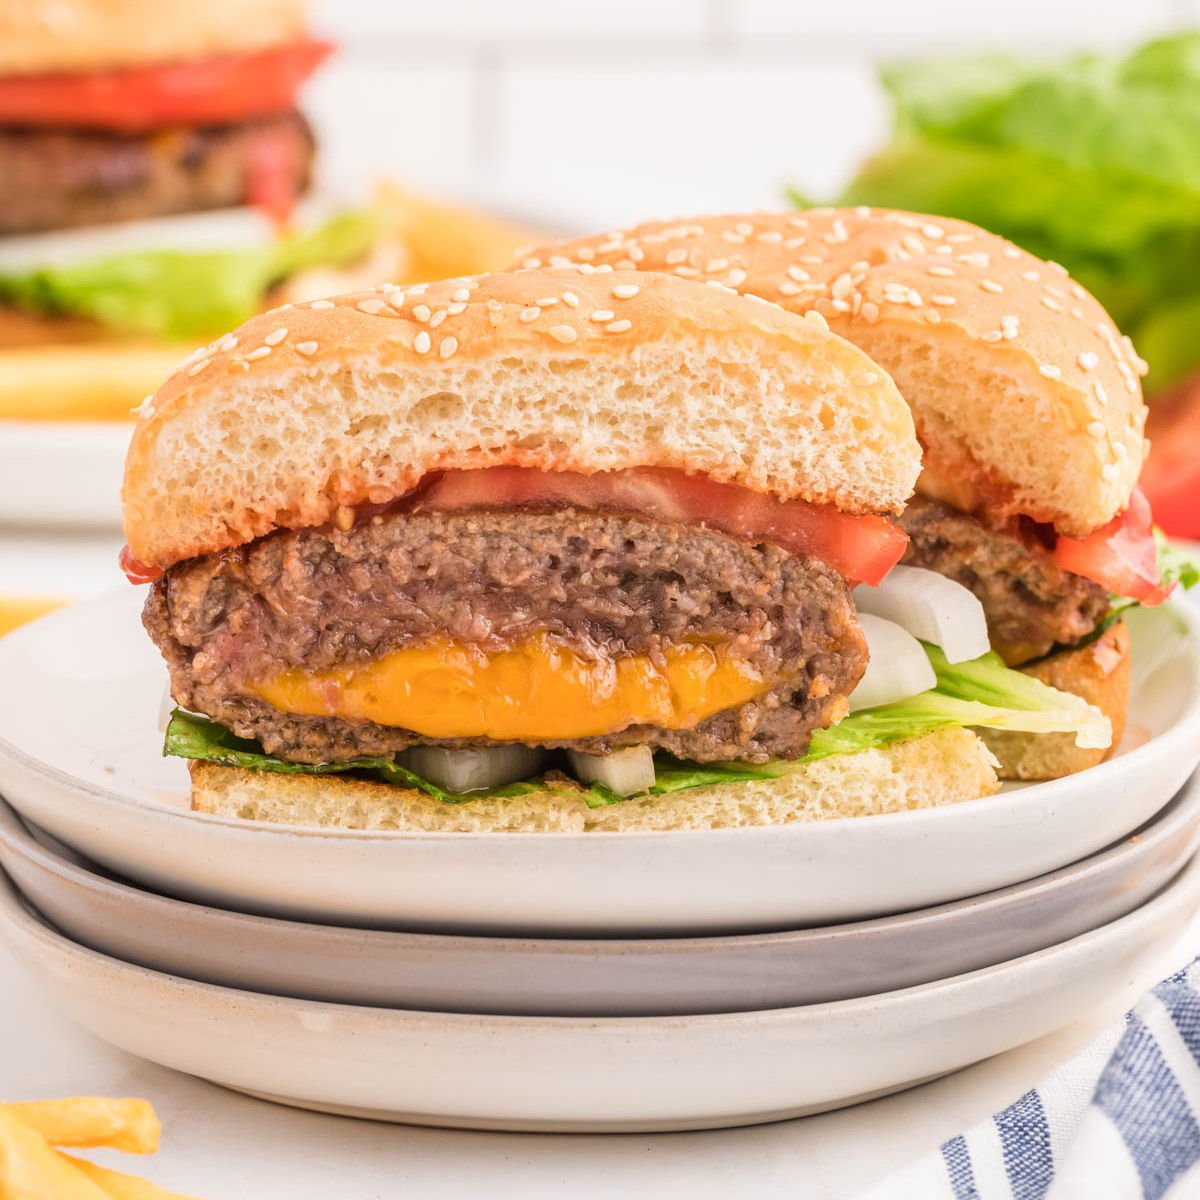
M 323 179 L 389 174 L 564 230 L 833 194 L 887 133 L 875 64 L 1200 25 L 1200 0 L 313 0 Z

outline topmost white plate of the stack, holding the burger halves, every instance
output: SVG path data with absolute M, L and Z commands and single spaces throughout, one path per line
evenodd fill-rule
M 160 754 L 166 670 L 144 593 L 0 641 L 0 794 L 89 858 L 216 907 L 349 925 L 534 935 L 797 929 L 923 908 L 1044 875 L 1163 808 L 1200 757 L 1200 614 L 1133 614 L 1123 752 L 942 809 L 751 829 L 354 833 L 193 814 Z M 1141 744 L 1138 744 L 1141 743 Z

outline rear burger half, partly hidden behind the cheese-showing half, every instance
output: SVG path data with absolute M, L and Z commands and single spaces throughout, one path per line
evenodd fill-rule
M 1150 506 L 1140 361 L 1055 263 L 941 217 L 815 209 L 652 222 L 530 252 L 714 282 L 817 313 L 895 379 L 923 449 L 900 518 L 908 568 L 970 588 L 1009 666 L 1124 725 L 1129 637 L 1120 616 L 1170 590 Z M 901 569 L 858 604 L 946 617 L 944 588 Z M 926 635 L 923 635 L 926 636 Z M 1111 748 L 985 732 L 1002 775 L 1051 779 Z

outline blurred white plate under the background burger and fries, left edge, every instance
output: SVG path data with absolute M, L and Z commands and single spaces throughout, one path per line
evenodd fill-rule
M 121 527 L 132 425 L 0 421 L 0 524 Z

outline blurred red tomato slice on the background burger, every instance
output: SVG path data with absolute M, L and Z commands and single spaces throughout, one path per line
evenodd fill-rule
M 250 54 L 114 71 L 0 77 L 0 125 L 145 133 L 218 125 L 295 107 L 300 84 L 332 50 L 304 38 Z

